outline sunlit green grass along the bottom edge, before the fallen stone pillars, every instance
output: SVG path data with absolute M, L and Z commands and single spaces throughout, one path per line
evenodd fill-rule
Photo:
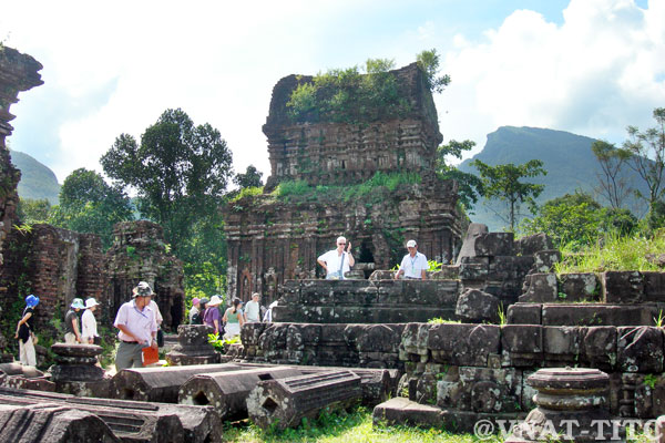
M 226 424 L 224 441 L 250 442 L 321 442 L 321 443 L 471 443 L 478 441 L 470 434 L 452 434 L 439 429 L 408 426 L 372 426 L 371 411 L 356 408 L 349 413 L 323 413 L 315 421 L 307 421 L 297 429 L 283 432 L 263 431 L 248 422 Z M 492 439 L 489 442 L 498 442 Z

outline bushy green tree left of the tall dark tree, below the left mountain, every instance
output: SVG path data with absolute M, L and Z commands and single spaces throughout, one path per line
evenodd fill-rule
M 50 222 L 78 233 L 98 234 L 108 248 L 113 241 L 113 225 L 133 218 L 129 197 L 117 186 L 109 186 L 94 171 L 72 172 L 60 188 L 60 205 Z

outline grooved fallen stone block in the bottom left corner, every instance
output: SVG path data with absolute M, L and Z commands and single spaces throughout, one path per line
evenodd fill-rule
M 55 403 L 0 404 L 0 441 L 17 443 L 120 443 L 91 412 Z

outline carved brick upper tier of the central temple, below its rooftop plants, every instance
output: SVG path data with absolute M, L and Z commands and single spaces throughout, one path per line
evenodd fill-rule
M 270 113 L 263 127 L 272 168 L 266 187 L 270 189 L 283 179 L 351 184 L 379 171 L 431 172 L 442 136 L 424 74 L 416 63 L 391 74 L 410 112 L 401 119 L 359 123 L 293 122 L 286 105 L 290 93 L 299 83 L 311 82 L 311 76 L 282 79 L 273 90 Z

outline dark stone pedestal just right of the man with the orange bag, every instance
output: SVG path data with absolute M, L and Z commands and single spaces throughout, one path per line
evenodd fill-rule
M 205 324 L 181 324 L 177 327 L 177 344 L 166 354 L 171 365 L 213 364 L 219 362 L 219 353 L 208 343 L 214 328 Z

